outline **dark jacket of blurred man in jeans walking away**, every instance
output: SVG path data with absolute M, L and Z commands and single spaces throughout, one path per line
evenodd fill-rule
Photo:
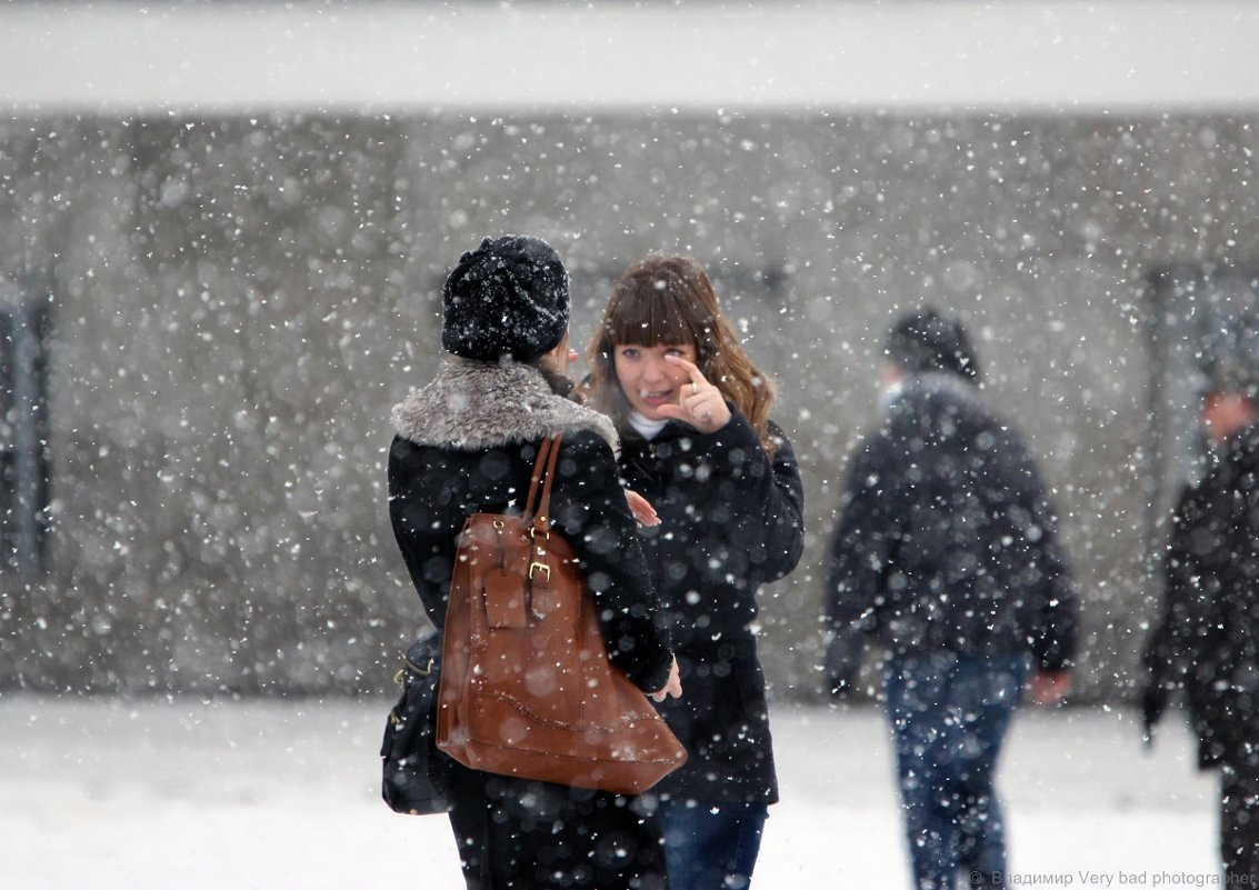
M 1075 595 L 1020 437 L 952 374 L 905 380 L 856 449 L 831 544 L 828 613 L 894 652 L 1075 655 Z

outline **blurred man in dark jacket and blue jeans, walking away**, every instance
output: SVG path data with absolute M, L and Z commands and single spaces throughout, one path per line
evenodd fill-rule
M 889 651 L 886 705 L 915 885 L 1002 886 L 993 773 L 1031 675 L 1069 689 L 1075 597 L 1026 447 L 977 389 L 954 318 L 922 310 L 888 336 L 888 413 L 851 462 L 831 548 L 841 646 Z M 1035 671 L 1032 670 L 1035 667 Z

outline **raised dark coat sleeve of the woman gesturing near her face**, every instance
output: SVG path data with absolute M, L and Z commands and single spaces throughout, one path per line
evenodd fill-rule
M 796 452 L 782 429 L 769 423 L 774 437 L 773 457 L 765 451 L 757 431 L 731 407 L 730 422 L 708 436 L 695 437 L 696 448 L 705 449 L 714 499 L 706 509 L 720 511 L 729 530 L 728 540 L 747 555 L 750 570 L 749 593 L 759 584 L 786 577 L 805 551 L 805 485 Z M 725 486 L 730 491 L 725 492 Z

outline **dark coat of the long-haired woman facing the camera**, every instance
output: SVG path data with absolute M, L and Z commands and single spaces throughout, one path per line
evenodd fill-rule
M 753 623 L 757 588 L 799 561 L 805 495 L 791 443 L 769 429 L 772 459 L 737 410 L 711 434 L 677 422 L 650 442 L 623 431 L 624 482 L 661 519 L 641 535 L 682 679 L 661 713 L 689 759 L 653 791 L 679 799 L 778 799 Z

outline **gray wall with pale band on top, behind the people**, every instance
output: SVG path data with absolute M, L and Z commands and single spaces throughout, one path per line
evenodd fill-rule
M 932 302 L 1063 514 L 1076 696 L 1131 700 L 1195 438 L 1197 344 L 1151 344 L 1221 271 L 1254 297 L 1255 43 L 1220 0 L 0 5 L 0 339 L 48 317 L 39 410 L 0 414 L 40 419 L 50 491 L 0 689 L 383 691 L 418 621 L 389 408 L 453 258 L 516 230 L 573 269 L 578 341 L 630 262 L 700 258 L 777 378 L 808 512 L 777 697 L 821 691 L 846 454 Z

